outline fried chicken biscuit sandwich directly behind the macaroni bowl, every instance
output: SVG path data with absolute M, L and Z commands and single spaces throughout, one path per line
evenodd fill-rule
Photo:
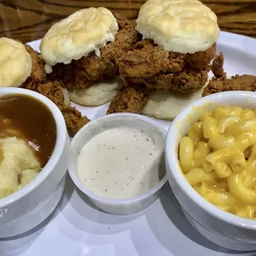
M 220 33 L 216 14 L 198 0 L 148 0 L 135 29 L 142 40 L 121 56 L 125 87 L 108 113 L 172 120 L 206 85 Z

